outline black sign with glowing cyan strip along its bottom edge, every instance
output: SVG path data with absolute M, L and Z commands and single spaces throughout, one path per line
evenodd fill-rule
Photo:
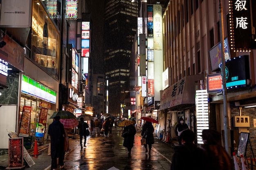
M 232 58 L 225 65 L 227 89 L 245 87 L 250 78 L 249 56 Z

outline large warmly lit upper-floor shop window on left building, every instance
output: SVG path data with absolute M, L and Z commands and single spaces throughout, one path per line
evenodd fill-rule
M 33 3 L 31 29 L 32 60 L 49 74 L 58 75 L 60 35 L 42 5 Z

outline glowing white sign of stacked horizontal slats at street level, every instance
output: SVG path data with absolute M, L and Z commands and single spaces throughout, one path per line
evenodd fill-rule
M 202 141 L 202 131 L 209 129 L 209 103 L 207 90 L 195 91 L 195 109 L 196 109 L 196 131 L 198 144 L 204 144 Z

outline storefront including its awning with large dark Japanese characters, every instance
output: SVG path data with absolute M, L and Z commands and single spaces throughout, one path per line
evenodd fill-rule
M 162 92 L 159 123 L 171 138 L 176 137 L 173 129 L 181 117 L 195 132 L 195 91 L 200 89 L 201 80 L 203 74 L 186 76 Z

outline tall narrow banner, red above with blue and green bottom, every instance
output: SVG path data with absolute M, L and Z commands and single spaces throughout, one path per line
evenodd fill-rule
M 45 135 L 46 119 L 47 119 L 48 109 L 41 108 L 39 122 L 36 125 L 36 140 L 43 141 Z

